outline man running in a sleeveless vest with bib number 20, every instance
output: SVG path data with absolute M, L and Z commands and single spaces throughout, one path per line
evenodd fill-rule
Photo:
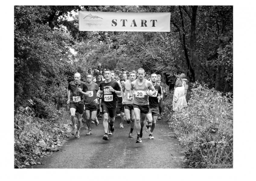
M 137 132 L 136 143 L 141 142 L 142 130 L 145 124 L 147 113 L 149 113 L 149 96 L 156 93 L 152 83 L 144 78 L 145 70 L 138 69 L 138 79 L 131 83 L 130 97 L 134 94 L 133 110 L 135 115 L 135 129 Z M 134 89 L 134 92 L 133 92 Z M 152 92 L 149 92 L 149 89 Z

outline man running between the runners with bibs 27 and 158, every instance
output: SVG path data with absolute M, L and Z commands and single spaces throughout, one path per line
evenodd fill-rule
M 97 105 L 98 105 L 98 98 L 97 98 L 97 92 L 99 90 L 99 86 L 92 82 L 92 75 L 87 74 L 86 75 L 86 86 L 88 88 L 89 97 L 85 99 L 85 114 L 86 114 L 86 125 L 88 126 L 88 133 L 86 135 L 91 135 L 91 120 L 94 122 L 95 125 L 99 125 L 99 121 L 96 117 L 97 113 Z

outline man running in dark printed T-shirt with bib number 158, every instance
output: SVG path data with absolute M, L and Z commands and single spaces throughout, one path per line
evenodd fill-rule
M 110 131 L 114 132 L 114 122 L 115 122 L 115 113 L 116 113 L 116 95 L 121 95 L 121 89 L 118 85 L 117 81 L 111 80 L 111 72 L 110 70 L 104 71 L 105 81 L 100 83 L 100 89 L 98 90 L 97 97 L 101 98 L 102 95 L 102 102 L 101 108 L 103 111 L 103 129 L 104 129 L 104 136 L 102 139 L 109 140 L 107 136 L 108 130 L 108 118 L 109 118 L 109 125 Z M 108 115 L 109 114 L 109 115 Z

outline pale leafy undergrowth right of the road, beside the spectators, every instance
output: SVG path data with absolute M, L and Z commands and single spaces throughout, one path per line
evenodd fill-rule
M 170 125 L 187 150 L 189 167 L 232 168 L 232 95 L 227 93 L 222 97 L 221 92 L 206 86 L 194 83 L 188 107 L 176 112 L 165 108 L 165 113 L 171 117 Z M 164 106 L 172 107 L 172 97 L 165 101 Z

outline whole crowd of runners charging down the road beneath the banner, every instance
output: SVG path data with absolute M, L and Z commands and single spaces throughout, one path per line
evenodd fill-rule
M 143 68 L 131 72 L 123 68 L 121 71 L 110 71 L 99 64 L 97 69 L 88 70 L 86 82 L 80 79 L 81 75 L 75 73 L 74 81 L 67 88 L 67 104 L 70 106 L 73 124 L 71 134 L 75 138 L 79 138 L 82 114 L 85 112 L 88 127 L 86 135 L 91 135 L 91 123 L 98 126 L 98 117 L 103 117 L 102 139 L 109 140 L 108 135 L 115 131 L 115 117 L 120 116 L 120 128 L 123 128 L 124 121 L 130 124 L 127 136 L 131 138 L 136 132 L 136 143 L 142 142 L 145 123 L 149 139 L 154 139 L 153 131 L 156 121 L 161 121 L 162 100 L 166 97 L 160 75 L 153 73 L 149 76 Z

